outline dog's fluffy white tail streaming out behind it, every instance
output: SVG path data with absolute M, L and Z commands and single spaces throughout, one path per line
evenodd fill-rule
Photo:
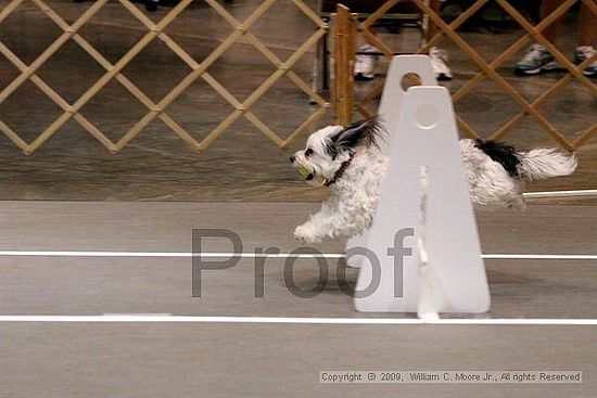
M 574 154 L 566 154 L 554 147 L 541 147 L 529 152 L 519 152 L 517 165 L 519 176 L 530 180 L 569 176 L 579 164 Z

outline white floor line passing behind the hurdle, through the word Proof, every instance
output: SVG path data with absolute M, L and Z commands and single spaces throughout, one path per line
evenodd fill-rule
M 320 253 L 320 254 L 255 254 L 255 253 L 202 253 L 204 259 L 230 258 L 232 256 L 240 258 L 343 258 L 342 253 Z M 24 256 L 24 257 L 200 257 L 198 253 L 191 252 L 71 252 L 71 251 L 0 251 L 0 256 Z M 504 259 L 504 260 L 597 260 L 594 254 L 484 254 L 484 259 Z

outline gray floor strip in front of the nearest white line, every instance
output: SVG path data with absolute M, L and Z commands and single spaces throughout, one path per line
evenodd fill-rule
M 595 397 L 595 328 L 0 325 L 4 397 Z M 583 384 L 319 384 L 321 370 L 582 370 Z

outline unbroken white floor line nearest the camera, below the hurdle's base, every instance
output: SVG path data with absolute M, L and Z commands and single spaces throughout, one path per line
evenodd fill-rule
M 452 324 L 452 325 L 597 325 L 597 319 L 437 319 L 277 318 L 191 316 L 0 316 L 0 322 L 154 322 L 154 323 L 300 323 L 300 324 Z

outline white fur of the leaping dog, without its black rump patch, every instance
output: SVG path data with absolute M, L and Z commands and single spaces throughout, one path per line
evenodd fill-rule
M 378 125 L 376 129 L 379 128 Z M 309 136 L 305 150 L 291 156 L 293 166 L 309 172 L 308 182 L 320 185 L 326 179 L 333 179 L 354 152 L 350 166 L 330 185 L 332 192 L 329 200 L 294 231 L 294 236 L 300 241 L 317 243 L 326 237 L 356 235 L 368 229 L 372 221 L 388 159 L 377 145 L 367 140 L 358 142 L 354 147 L 336 147 L 332 155 L 330 145 L 335 144 L 334 140 L 343 131 L 346 131 L 343 126 L 320 129 Z M 518 153 L 519 176 L 511 177 L 501 164 L 477 147 L 472 140 L 460 140 L 460 152 L 471 201 L 481 206 L 521 206 L 525 179 L 567 176 L 576 167 L 574 155 L 562 154 L 554 149 L 537 149 Z

